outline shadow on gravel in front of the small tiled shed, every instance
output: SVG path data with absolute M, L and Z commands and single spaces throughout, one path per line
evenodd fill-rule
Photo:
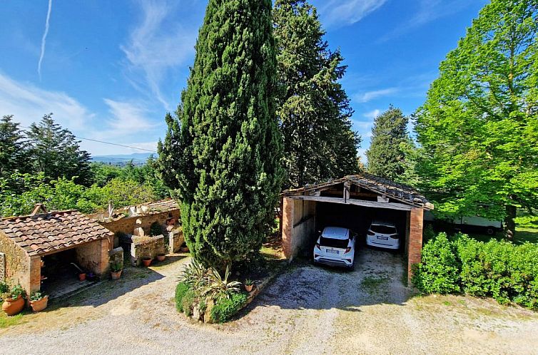
M 125 267 L 121 274 L 121 279 L 113 281 L 108 274 L 101 280 L 101 282 L 96 282 L 95 284 L 82 289 L 81 292 L 66 297 L 60 297 L 58 299 L 52 299 L 51 302 L 49 302 L 49 307 L 43 312 L 52 312 L 64 307 L 98 307 L 101 304 L 106 304 L 134 289 L 163 279 L 164 275 L 159 272 L 161 267 L 166 267 L 166 265 L 173 264 L 186 257 L 189 257 L 188 254 L 168 256 L 163 262 L 154 260 L 151 264 L 153 269 L 148 267 Z

